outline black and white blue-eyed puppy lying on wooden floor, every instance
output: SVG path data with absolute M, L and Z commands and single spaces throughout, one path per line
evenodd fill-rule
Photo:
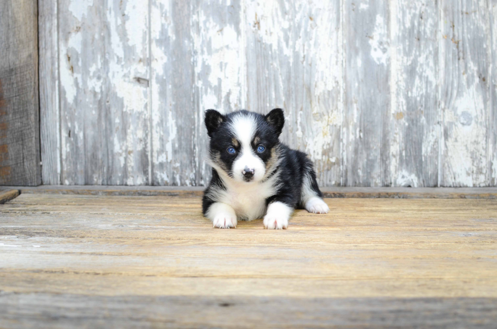
M 312 162 L 279 142 L 285 124 L 281 108 L 263 116 L 237 111 L 205 112 L 212 179 L 204 191 L 203 214 L 214 227 L 264 216 L 267 229 L 286 229 L 295 208 L 327 213 Z

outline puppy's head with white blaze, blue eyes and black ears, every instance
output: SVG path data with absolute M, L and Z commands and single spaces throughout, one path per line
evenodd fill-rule
M 248 111 L 223 116 L 208 109 L 205 126 L 210 137 L 211 164 L 236 181 L 262 180 L 277 160 L 278 137 L 284 124 L 281 108 L 266 116 Z

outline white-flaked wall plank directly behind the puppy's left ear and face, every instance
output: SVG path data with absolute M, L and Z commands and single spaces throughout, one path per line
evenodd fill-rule
M 194 94 L 194 171 L 192 185 L 207 185 L 210 166 L 204 111 L 228 113 L 246 107 L 245 17 L 239 1 L 194 2 L 192 11 Z

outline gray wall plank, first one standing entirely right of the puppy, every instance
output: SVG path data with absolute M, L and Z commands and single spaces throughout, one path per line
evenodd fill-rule
M 390 39 L 386 2 L 345 2 L 345 186 L 390 186 Z

